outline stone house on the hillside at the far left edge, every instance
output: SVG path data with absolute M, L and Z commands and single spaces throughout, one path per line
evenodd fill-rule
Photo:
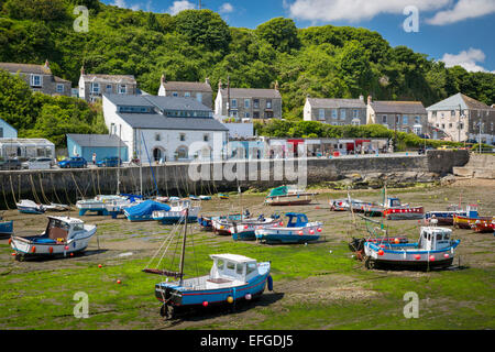
M 0 63 L 0 69 L 4 69 L 12 75 L 19 74 L 33 91 L 40 91 L 48 96 L 72 96 L 72 82 L 54 76 L 48 61 L 44 65 Z

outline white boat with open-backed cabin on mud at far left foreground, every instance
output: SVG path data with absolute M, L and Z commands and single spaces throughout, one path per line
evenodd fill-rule
M 47 217 L 46 230 L 40 235 L 10 238 L 16 260 L 35 256 L 74 255 L 88 246 L 97 227 L 70 217 Z

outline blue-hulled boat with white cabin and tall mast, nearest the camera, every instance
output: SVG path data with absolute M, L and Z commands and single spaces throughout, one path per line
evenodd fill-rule
M 250 301 L 260 297 L 266 284 L 273 289 L 270 276 L 271 263 L 258 263 L 256 260 L 238 254 L 211 254 L 213 265 L 207 275 L 185 277 L 184 264 L 186 261 L 187 217 L 185 211 L 183 245 L 178 272 L 161 268 L 145 268 L 143 272 L 173 277 L 155 285 L 155 297 L 162 302 L 160 310 L 165 319 L 174 319 L 180 310 L 190 308 L 205 309 L 210 306 L 231 305 Z M 177 228 L 178 229 L 178 228 Z M 178 230 L 176 231 L 178 233 Z M 174 241 L 175 233 L 164 240 L 165 243 Z M 162 248 L 168 248 L 164 246 Z M 160 251 L 160 250 L 158 250 Z M 166 251 L 166 250 L 165 250 Z M 162 255 L 157 267 L 162 263 Z

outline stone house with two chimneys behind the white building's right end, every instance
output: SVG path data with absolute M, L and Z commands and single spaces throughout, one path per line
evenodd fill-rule
M 201 81 L 168 81 L 165 75 L 162 75 L 160 81 L 158 96 L 161 97 L 180 97 L 194 98 L 204 106 L 211 109 L 213 105 L 213 91 L 211 90 L 210 79 Z

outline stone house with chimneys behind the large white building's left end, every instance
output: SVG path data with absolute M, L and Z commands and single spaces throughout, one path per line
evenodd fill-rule
M 107 95 L 136 95 L 138 82 L 132 75 L 95 75 L 80 69 L 79 98 L 95 102 Z

